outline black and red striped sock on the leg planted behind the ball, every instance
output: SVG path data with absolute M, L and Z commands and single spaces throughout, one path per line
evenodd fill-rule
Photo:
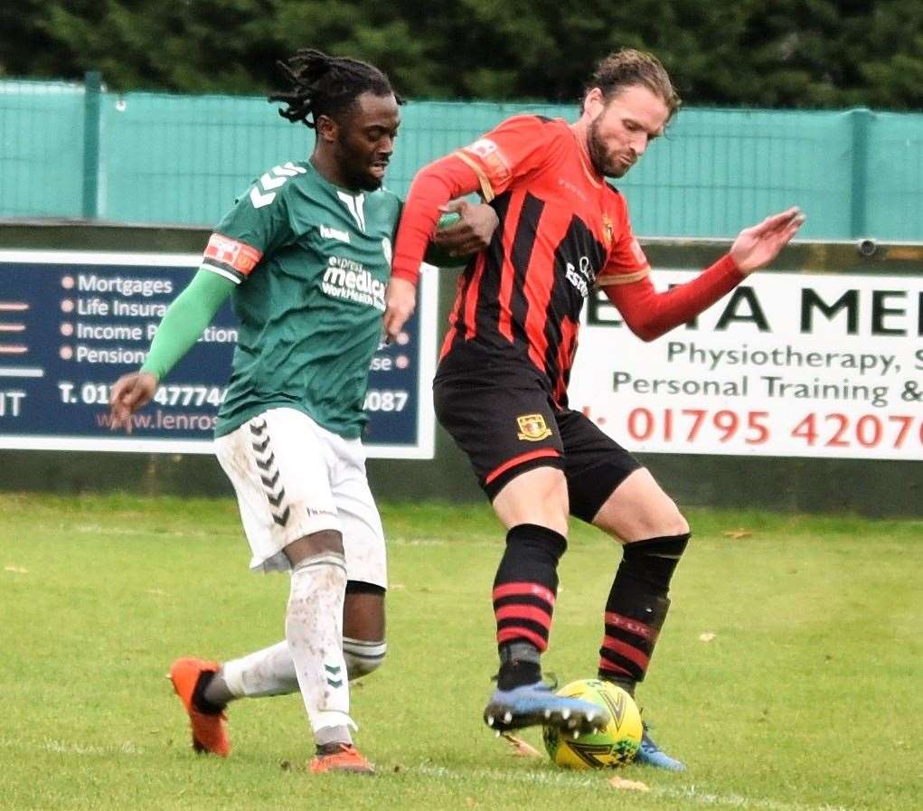
M 689 534 L 627 543 L 605 602 L 605 634 L 599 649 L 599 677 L 632 695 L 651 662 L 670 601 L 670 578 L 689 543 Z

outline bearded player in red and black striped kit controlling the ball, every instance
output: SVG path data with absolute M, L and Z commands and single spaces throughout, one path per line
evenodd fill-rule
M 632 694 L 689 542 L 686 519 L 653 476 L 568 409 L 584 300 L 602 288 L 629 328 L 653 340 L 772 261 L 804 221 L 798 209 L 769 217 L 742 231 L 694 280 L 656 292 L 625 198 L 605 177 L 627 173 L 678 105 L 651 54 L 612 54 L 597 66 L 575 124 L 510 118 L 418 173 L 403 209 L 386 294 L 392 336 L 413 312 L 440 206 L 477 191 L 500 221 L 459 280 L 434 382 L 439 422 L 468 455 L 508 530 L 493 591 L 497 690 L 485 709 L 497 730 L 551 723 L 576 732 L 607 721 L 586 702 L 557 697 L 541 678 L 569 516 L 624 544 L 605 602 L 599 677 Z M 646 732 L 639 760 L 685 768 Z

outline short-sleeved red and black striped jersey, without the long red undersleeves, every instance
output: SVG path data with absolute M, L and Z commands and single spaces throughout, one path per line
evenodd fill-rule
M 500 222 L 459 280 L 440 373 L 530 364 L 564 407 L 583 302 L 649 269 L 625 199 L 562 119 L 516 116 L 454 155 Z

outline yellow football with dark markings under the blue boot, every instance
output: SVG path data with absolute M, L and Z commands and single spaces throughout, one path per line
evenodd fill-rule
M 580 698 L 608 710 L 611 721 L 597 733 L 573 738 L 554 727 L 542 737 L 548 756 L 565 769 L 617 769 L 634 760 L 641 745 L 641 712 L 621 687 L 599 679 L 580 679 L 561 687 L 558 696 Z

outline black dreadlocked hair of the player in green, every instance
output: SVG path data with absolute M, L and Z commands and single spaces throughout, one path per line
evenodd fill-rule
M 394 95 L 399 104 L 403 99 L 391 89 L 390 81 L 377 67 L 350 59 L 329 56 L 314 48 L 302 48 L 285 62 L 278 62 L 289 89 L 277 90 L 269 101 L 282 101 L 286 108 L 282 118 L 300 121 L 315 128 L 318 117 L 336 118 L 349 109 L 363 93 L 376 96 Z

